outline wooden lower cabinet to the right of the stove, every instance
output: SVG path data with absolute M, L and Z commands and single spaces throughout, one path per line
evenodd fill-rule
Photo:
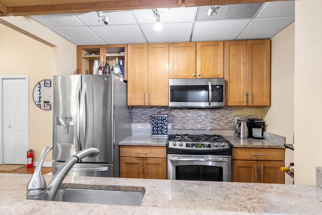
M 284 184 L 284 149 L 233 149 L 232 181 Z

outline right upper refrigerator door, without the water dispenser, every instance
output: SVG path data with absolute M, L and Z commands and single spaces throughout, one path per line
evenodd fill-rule
M 100 150 L 97 157 L 85 158 L 82 162 L 113 163 L 115 78 L 112 75 L 85 75 L 82 87 L 79 108 L 81 148 Z

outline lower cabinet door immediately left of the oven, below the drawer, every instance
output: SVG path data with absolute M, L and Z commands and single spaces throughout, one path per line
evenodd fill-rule
M 167 179 L 167 159 L 147 158 L 143 160 L 144 178 Z

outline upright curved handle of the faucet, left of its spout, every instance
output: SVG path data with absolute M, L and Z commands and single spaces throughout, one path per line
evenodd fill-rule
M 47 184 L 44 176 L 41 172 L 42 164 L 44 163 L 44 160 L 49 153 L 49 151 L 52 149 L 51 147 L 45 147 L 45 149 L 42 151 L 40 158 L 38 160 L 36 169 L 34 174 L 32 175 L 31 179 L 28 182 L 27 190 L 33 190 L 33 189 L 46 189 Z

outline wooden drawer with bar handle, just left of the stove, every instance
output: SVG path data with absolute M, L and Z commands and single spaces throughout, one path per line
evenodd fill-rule
M 120 146 L 120 157 L 167 158 L 166 147 Z

